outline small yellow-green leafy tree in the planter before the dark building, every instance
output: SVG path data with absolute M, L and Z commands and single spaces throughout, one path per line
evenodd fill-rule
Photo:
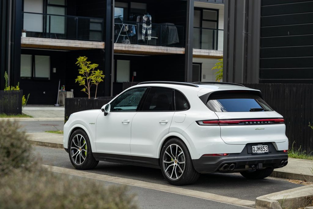
M 88 99 L 90 99 L 90 87 L 92 84 L 96 85 L 96 94 L 98 84 L 103 81 L 104 78 L 103 71 L 96 70 L 99 65 L 98 64 L 90 64 L 90 61 L 87 61 L 87 57 L 80 56 L 77 58 L 77 62 L 75 63 L 77 66 L 80 67 L 79 74 L 82 76 L 77 76 L 75 79 L 75 83 L 78 82 L 80 86 L 85 86 L 81 91 L 84 91 L 88 94 Z

